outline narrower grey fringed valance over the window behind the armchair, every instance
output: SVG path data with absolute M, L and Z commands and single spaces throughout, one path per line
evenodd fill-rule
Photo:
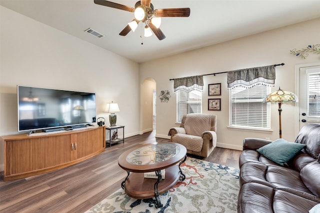
M 173 89 L 174 92 L 179 90 L 184 90 L 190 92 L 192 90 L 198 90 L 200 92 L 203 91 L 203 76 L 189 76 L 183 78 L 174 78 Z

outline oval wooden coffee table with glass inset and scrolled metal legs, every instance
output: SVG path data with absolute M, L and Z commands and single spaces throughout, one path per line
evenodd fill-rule
M 185 179 L 180 169 L 185 160 L 186 149 L 181 144 L 154 143 L 134 147 L 122 153 L 118 159 L 118 165 L 127 172 L 121 187 L 131 198 L 155 197 L 155 207 L 159 208 L 161 203 L 158 196 L 167 192 L 177 181 Z M 161 175 L 163 169 L 164 179 Z M 154 172 L 157 179 L 144 178 L 147 172 Z

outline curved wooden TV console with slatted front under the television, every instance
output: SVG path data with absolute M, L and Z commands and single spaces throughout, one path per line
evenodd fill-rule
M 2 136 L 3 181 L 38 175 L 89 159 L 105 148 L 105 127 Z

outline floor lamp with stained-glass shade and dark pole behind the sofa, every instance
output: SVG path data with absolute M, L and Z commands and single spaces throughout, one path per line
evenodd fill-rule
M 281 105 L 284 102 L 298 102 L 298 98 L 295 94 L 289 91 L 281 90 L 280 87 L 278 90 L 271 92 L 267 96 L 264 97 L 263 102 L 265 103 L 278 103 L 279 108 L 279 138 L 282 138 L 282 130 L 281 130 Z

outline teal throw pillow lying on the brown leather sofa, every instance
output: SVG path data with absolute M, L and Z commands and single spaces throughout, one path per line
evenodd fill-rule
M 284 163 L 293 158 L 305 146 L 305 144 L 291 143 L 280 138 L 270 144 L 260 147 L 256 151 L 271 161 L 283 166 Z

